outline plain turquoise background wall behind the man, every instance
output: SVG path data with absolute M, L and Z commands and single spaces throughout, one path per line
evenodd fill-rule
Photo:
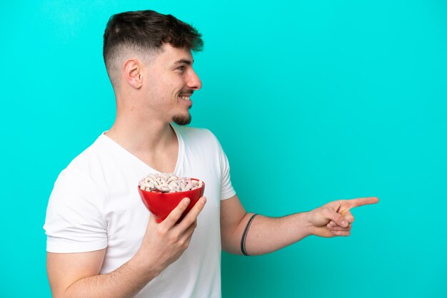
M 353 210 L 350 237 L 224 253 L 224 297 L 447 297 L 447 4 L 434 0 L 1 1 L 0 297 L 50 297 L 47 200 L 113 123 L 102 34 L 139 9 L 204 35 L 191 125 L 221 140 L 248 211 L 381 199 Z

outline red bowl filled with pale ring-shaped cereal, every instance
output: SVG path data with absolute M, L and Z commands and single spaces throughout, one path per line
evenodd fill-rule
M 205 183 L 195 178 L 181 178 L 174 173 L 155 173 L 141 179 L 138 190 L 141 200 L 155 216 L 156 222 L 165 220 L 181 200 L 189 197 L 191 202 L 177 222 L 179 223 L 204 195 Z

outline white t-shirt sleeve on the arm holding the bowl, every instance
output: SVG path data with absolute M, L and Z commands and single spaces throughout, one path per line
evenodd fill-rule
M 100 199 L 99 190 L 86 175 L 62 171 L 46 210 L 47 252 L 91 252 L 107 247 Z

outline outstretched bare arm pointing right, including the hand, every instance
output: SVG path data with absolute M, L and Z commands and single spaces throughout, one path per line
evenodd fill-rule
M 309 212 L 284 217 L 257 215 L 246 235 L 249 255 L 262 255 L 291 245 L 308 235 L 347 236 L 353 216 L 349 209 L 378 202 L 376 197 L 338 200 Z M 241 255 L 241 238 L 253 213 L 247 213 L 237 195 L 221 202 L 221 238 L 226 252 Z M 346 216 L 346 217 L 345 217 Z M 346 222 L 343 222 L 346 221 Z

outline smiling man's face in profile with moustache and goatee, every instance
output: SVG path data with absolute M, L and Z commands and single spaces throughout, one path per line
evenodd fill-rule
M 192 68 L 190 51 L 164 45 L 164 51 L 146 66 L 145 92 L 149 106 L 157 117 L 179 125 L 191 123 L 191 95 L 201 88 L 199 76 Z

